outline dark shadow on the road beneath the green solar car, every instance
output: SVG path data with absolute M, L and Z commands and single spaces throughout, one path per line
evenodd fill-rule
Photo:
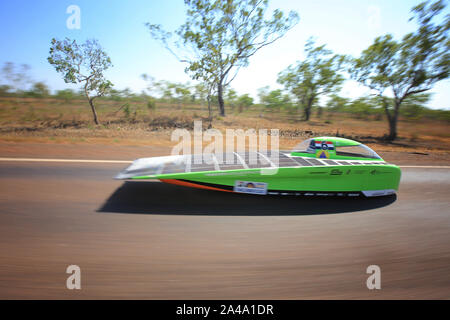
M 395 195 L 375 198 L 259 196 L 159 182 L 125 182 L 97 211 L 168 215 L 314 215 L 377 209 L 396 199 Z

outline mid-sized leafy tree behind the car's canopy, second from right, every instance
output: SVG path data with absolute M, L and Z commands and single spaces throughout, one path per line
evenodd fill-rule
M 340 74 L 346 58 L 333 55 L 325 45 L 315 47 L 309 39 L 306 59 L 289 66 L 278 75 L 278 82 L 296 97 L 298 106 L 304 109 L 305 120 L 309 120 L 311 108 L 321 95 L 340 90 L 344 77 Z

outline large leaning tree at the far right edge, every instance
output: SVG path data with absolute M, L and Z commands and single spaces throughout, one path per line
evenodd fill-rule
M 390 34 L 378 37 L 353 61 L 352 78 L 380 98 L 389 123 L 387 140 L 397 138 L 399 111 L 405 99 L 429 91 L 449 77 L 450 14 L 440 15 L 445 7 L 442 0 L 420 3 L 412 9 L 410 19 L 418 22 L 416 31 L 401 41 Z

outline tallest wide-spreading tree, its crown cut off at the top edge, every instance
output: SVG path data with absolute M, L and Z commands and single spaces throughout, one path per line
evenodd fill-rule
M 185 4 L 186 22 L 174 33 L 161 25 L 146 25 L 153 38 L 187 64 L 185 71 L 192 79 L 216 89 L 223 116 L 226 86 L 248 66 L 251 56 L 297 24 L 298 14 L 276 9 L 266 18 L 268 0 L 185 0 Z

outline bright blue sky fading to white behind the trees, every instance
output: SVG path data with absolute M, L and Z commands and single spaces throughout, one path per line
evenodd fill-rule
M 300 22 L 288 34 L 271 46 L 265 47 L 250 59 L 249 67 L 242 69 L 231 86 L 238 93 L 256 97 L 258 88 L 269 85 L 281 88 L 277 74 L 303 58 L 303 47 L 310 36 L 327 44 L 336 53 L 357 56 L 376 36 L 386 33 L 396 38 L 413 31 L 414 22 L 408 22 L 410 9 L 417 0 L 272 0 L 270 9 L 295 10 Z M 81 28 L 68 29 L 67 7 L 81 9 Z M 36 81 L 45 81 L 52 89 L 69 86 L 47 62 L 51 38 L 69 37 L 79 41 L 96 38 L 110 55 L 114 67 L 107 77 L 116 89 L 131 88 L 140 92 L 147 73 L 159 80 L 189 81 L 185 65 L 150 37 L 144 23 L 162 24 L 174 30 L 184 22 L 182 0 L 96 0 L 96 1 L 2 1 L 0 3 L 0 64 L 12 61 L 31 66 Z M 1 81 L 1 80 L 0 80 Z M 450 109 L 450 81 L 433 89 L 432 108 Z M 341 95 L 358 97 L 367 90 L 348 81 Z

